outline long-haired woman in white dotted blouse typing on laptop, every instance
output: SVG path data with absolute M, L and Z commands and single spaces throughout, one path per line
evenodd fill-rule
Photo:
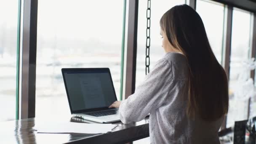
M 203 21 L 188 5 L 177 5 L 160 19 L 166 54 L 119 107 L 123 123 L 149 117 L 152 144 L 219 144 L 228 112 L 224 69 L 211 50 Z

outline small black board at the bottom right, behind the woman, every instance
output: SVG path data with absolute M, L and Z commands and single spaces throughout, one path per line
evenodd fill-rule
M 236 121 L 234 128 L 234 144 L 245 144 L 245 130 L 248 120 Z

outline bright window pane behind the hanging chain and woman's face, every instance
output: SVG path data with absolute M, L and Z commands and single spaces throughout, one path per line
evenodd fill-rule
M 151 24 L 150 24 L 150 69 L 155 62 L 161 59 L 165 51 L 162 48 L 159 21 L 163 14 L 175 5 L 185 4 L 185 0 L 160 0 L 151 1 Z M 136 86 L 145 77 L 145 51 L 146 51 L 146 29 L 147 29 L 147 0 L 139 0 L 138 16 L 138 39 L 137 39 L 137 61 L 136 61 Z

